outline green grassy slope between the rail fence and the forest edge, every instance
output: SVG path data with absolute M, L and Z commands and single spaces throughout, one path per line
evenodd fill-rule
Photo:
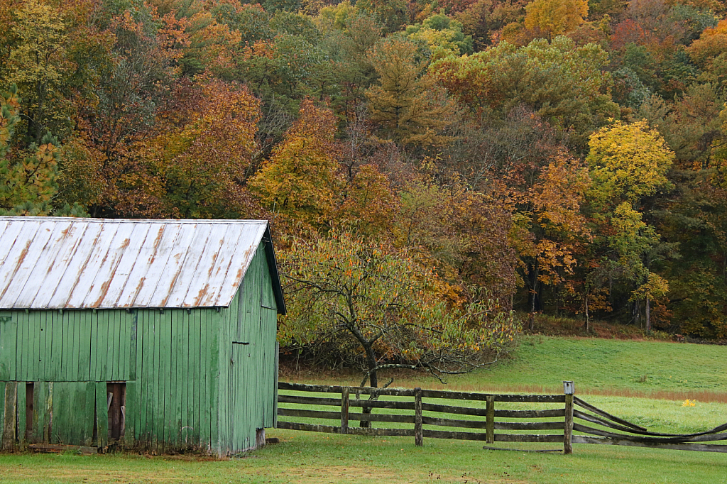
M 394 376 L 395 387 L 444 387 L 426 373 Z M 358 374 L 281 376 L 281 380 L 359 384 Z M 453 390 L 559 393 L 563 380 L 576 392 L 654 398 L 697 398 L 727 403 L 727 346 L 595 338 L 523 336 L 510 355 L 489 368 L 446 377 Z

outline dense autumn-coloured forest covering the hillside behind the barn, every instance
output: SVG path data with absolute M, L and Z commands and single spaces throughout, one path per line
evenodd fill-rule
M 1 214 L 269 219 L 286 344 L 339 270 L 387 361 L 405 305 L 431 361 L 510 310 L 727 338 L 723 1 L 0 0 L 0 93 Z

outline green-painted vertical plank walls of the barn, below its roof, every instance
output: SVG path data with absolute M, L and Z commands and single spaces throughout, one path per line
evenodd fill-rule
M 126 382 L 125 445 L 217 455 L 252 448 L 277 411 L 275 307 L 261 243 L 219 311 L 0 312 L 0 424 L 12 403 L 12 429 L 25 443 L 25 382 L 34 382 L 31 442 L 105 446 L 106 384 Z

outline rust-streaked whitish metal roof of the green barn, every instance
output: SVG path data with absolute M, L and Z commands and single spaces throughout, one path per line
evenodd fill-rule
M 0 217 L 0 308 L 225 307 L 265 240 L 265 220 Z

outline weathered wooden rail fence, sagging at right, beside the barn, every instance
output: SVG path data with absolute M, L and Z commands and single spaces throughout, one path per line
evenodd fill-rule
M 727 452 L 727 445 L 704 444 L 704 442 L 727 440 L 727 424 L 720 425 L 707 432 L 694 434 L 648 432 L 644 427 L 619 419 L 619 417 L 608 414 L 575 397 L 572 392 L 572 382 L 564 382 L 564 384 L 566 384 L 566 392 L 563 395 L 493 395 L 474 392 L 422 390 L 421 388 L 377 389 L 279 382 L 278 417 L 294 417 L 299 420 L 305 419 L 306 422 L 287 422 L 278 419 L 276 427 L 336 434 L 414 437 L 414 442 L 417 445 L 423 445 L 424 438 L 427 437 L 482 440 L 485 443 L 563 443 L 565 453 L 572 453 L 573 443 Z M 300 392 L 337 394 L 340 396 L 336 398 L 321 397 L 319 395 L 308 396 L 300 395 Z M 362 395 L 368 395 L 369 398 L 362 399 Z M 379 400 L 382 397 L 388 397 L 389 399 Z M 424 399 L 429 401 L 425 402 Z M 431 403 L 432 400 L 436 401 L 437 399 L 469 400 L 477 403 L 474 406 L 471 403 L 468 406 Z M 557 408 L 541 410 L 510 410 L 495 408 L 496 403 L 558 405 L 553 405 Z M 284 405 L 281 406 L 280 404 Z M 323 407 L 326 410 L 313 409 L 312 406 L 316 408 Z M 333 411 L 332 407 L 337 408 Z M 351 411 L 352 407 L 361 408 L 361 412 Z M 577 410 L 575 407 L 579 409 Z M 374 409 L 376 409 L 377 413 L 374 413 Z M 426 415 L 425 412 L 427 412 Z M 447 418 L 444 418 L 442 414 L 445 414 L 444 416 Z M 446 414 L 449 414 L 449 416 Z M 450 416 L 457 418 L 451 418 Z M 467 419 L 467 416 L 470 416 L 470 419 Z M 595 424 L 598 427 L 590 427 L 586 424 L 574 422 L 574 419 L 587 424 Z M 334 420 L 337 425 L 319 423 L 326 420 Z M 529 422 L 529 420 L 535 420 L 535 422 Z M 360 426 L 350 425 L 349 423 L 352 421 L 360 422 Z M 413 427 L 374 428 L 372 422 L 413 424 Z M 470 431 L 443 430 L 442 427 L 462 428 Z M 577 433 L 574 434 L 574 432 Z

